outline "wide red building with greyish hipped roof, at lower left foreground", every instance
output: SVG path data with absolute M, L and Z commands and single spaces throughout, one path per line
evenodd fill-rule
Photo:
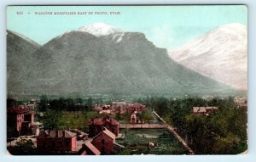
M 40 131 L 37 137 L 37 148 L 44 151 L 75 151 L 76 133 L 66 130 Z

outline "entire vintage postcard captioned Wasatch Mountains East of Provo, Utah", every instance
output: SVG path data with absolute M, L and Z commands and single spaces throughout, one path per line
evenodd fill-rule
M 6 88 L 9 154 L 247 154 L 247 7 L 9 6 Z

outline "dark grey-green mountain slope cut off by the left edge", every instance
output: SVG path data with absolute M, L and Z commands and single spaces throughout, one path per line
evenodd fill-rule
M 20 90 L 26 84 L 27 70 L 35 61 L 32 53 L 39 47 L 38 43 L 26 36 L 7 31 L 7 84 L 10 91 Z

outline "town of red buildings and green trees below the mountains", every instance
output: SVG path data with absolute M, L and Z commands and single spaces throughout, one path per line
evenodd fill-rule
M 9 98 L 7 108 L 9 154 L 205 154 L 225 144 L 217 141 L 220 136 L 225 140 L 234 136 L 238 142 L 215 154 L 237 154 L 247 148 L 246 98 L 144 98 L 104 103 L 92 98 L 42 96 L 40 101 L 24 103 Z M 235 117 L 239 120 L 234 123 L 236 130 L 221 126 L 225 122 L 219 120 Z M 216 126 L 208 128 L 214 135 L 200 130 L 207 122 Z M 202 142 L 212 145 L 198 149 Z

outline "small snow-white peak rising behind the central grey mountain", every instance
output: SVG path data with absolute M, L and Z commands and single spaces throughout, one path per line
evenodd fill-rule
M 122 30 L 105 23 L 94 23 L 91 25 L 87 25 L 79 28 L 78 31 L 89 32 L 94 36 L 105 36 L 105 35 L 123 32 Z

